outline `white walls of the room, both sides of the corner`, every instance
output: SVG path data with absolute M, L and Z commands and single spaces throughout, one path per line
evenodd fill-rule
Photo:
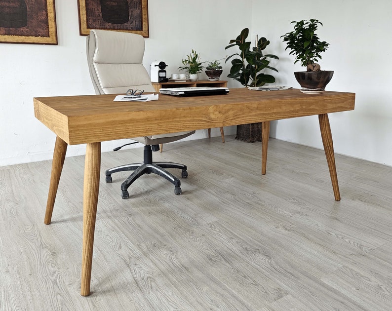
M 392 2 L 375 0 L 149 0 L 150 38 L 144 65 L 163 60 L 168 74 L 177 72 L 191 49 L 203 60 L 232 54 L 225 46 L 248 27 L 252 36 L 271 40 L 268 52 L 278 84 L 299 87 L 293 58 L 279 38 L 292 20 L 317 18 L 324 27 L 319 37 L 331 43 L 323 69 L 334 70 L 328 90 L 356 93 L 355 111 L 333 114 L 330 122 L 335 152 L 392 165 L 391 57 L 389 40 Z M 50 159 L 54 134 L 34 117 L 33 97 L 94 94 L 85 57 L 85 37 L 79 36 L 77 1 L 56 0 L 58 45 L 0 43 L 0 166 Z M 285 9 L 282 9 L 285 7 Z M 171 35 L 169 37 L 169 35 Z M 175 35 L 176 38 L 172 39 Z M 229 73 L 224 67 L 224 77 Z M 204 76 L 205 77 L 205 76 Z M 229 87 L 239 87 L 229 79 Z M 321 148 L 316 117 L 274 122 L 272 135 Z M 234 133 L 234 128 L 225 128 Z M 213 130 L 219 136 L 219 130 Z M 198 131 L 193 138 L 206 137 Z M 105 142 L 103 151 L 119 142 Z M 83 154 L 84 145 L 70 146 L 67 156 Z

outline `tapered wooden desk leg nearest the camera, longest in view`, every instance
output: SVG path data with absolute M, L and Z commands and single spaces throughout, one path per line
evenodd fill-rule
M 94 246 L 100 171 L 101 143 L 89 143 L 86 147 L 83 181 L 83 250 L 80 289 L 80 294 L 82 296 L 88 296 L 90 294 L 92 252 Z

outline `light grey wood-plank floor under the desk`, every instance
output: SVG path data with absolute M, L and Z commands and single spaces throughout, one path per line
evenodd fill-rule
M 102 155 L 91 290 L 79 295 L 84 157 L 66 158 L 52 224 L 50 161 L 0 168 L 0 310 L 392 310 L 392 168 L 233 136 L 164 145 L 188 165 L 182 195 L 156 175 L 121 199 L 128 174 L 106 168 L 142 149 Z M 181 176 L 174 170 L 174 174 Z

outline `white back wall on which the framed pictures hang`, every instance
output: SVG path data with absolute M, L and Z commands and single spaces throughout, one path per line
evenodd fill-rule
M 34 117 L 33 97 L 94 94 L 86 62 L 86 37 L 79 36 L 77 3 L 55 1 L 58 45 L 0 43 L 0 166 L 53 156 L 55 135 Z M 230 19 L 238 11 L 249 13 L 251 1 L 178 3 L 148 1 L 150 38 L 146 39 L 143 61 L 148 72 L 154 60 L 165 61 L 168 74 L 177 72 L 181 59 L 192 48 L 202 60 L 224 57 L 231 34 L 248 22 L 248 14 L 237 18 L 238 23 Z M 225 128 L 226 134 L 234 131 L 235 127 Z M 212 136 L 220 136 L 219 129 L 211 132 Z M 189 138 L 200 137 L 207 137 L 206 131 Z M 110 151 L 121 142 L 104 142 L 102 151 Z M 67 156 L 84 152 L 85 145 L 69 146 Z

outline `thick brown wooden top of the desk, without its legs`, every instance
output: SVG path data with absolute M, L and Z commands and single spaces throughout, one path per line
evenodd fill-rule
M 150 102 L 114 102 L 116 94 L 34 98 L 35 116 L 70 145 L 270 121 L 354 109 L 355 94 L 298 89 L 227 95 L 159 95 Z

